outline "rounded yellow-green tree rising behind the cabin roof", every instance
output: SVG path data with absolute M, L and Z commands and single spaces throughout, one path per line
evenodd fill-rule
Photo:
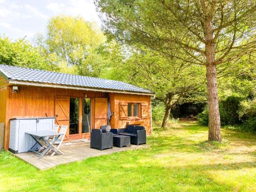
M 38 34 L 35 44 L 52 70 L 87 76 L 99 76 L 104 65 L 101 47 L 105 37 L 93 23 L 81 17 L 52 17 L 47 35 Z

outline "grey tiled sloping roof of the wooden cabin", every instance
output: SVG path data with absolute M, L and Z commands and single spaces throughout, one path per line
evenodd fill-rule
M 122 81 L 87 77 L 81 75 L 72 75 L 66 73 L 56 73 L 16 66 L 0 65 L 0 74 L 3 74 L 4 76 L 6 76 L 6 78 L 13 81 L 49 83 L 59 86 L 145 93 L 152 95 L 154 94 L 154 92 L 150 90 L 142 89 Z

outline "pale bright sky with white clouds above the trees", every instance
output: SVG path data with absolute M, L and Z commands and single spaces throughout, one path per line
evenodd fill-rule
M 36 33 L 45 34 L 49 19 L 60 14 L 101 25 L 93 0 L 0 0 L 0 34 L 32 40 Z

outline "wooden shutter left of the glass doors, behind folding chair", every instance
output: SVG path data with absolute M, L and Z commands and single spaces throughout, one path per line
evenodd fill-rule
M 69 97 L 57 96 L 55 99 L 56 124 L 69 125 Z M 69 129 L 66 132 L 65 140 L 69 139 Z

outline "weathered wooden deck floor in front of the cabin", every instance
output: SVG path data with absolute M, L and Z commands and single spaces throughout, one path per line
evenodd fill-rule
M 126 150 L 134 150 L 134 149 L 143 148 L 143 147 L 146 147 L 146 145 L 145 144 L 138 145 L 138 146 L 131 145 L 131 146 L 126 146 L 122 148 L 114 146 L 113 148 L 100 151 L 100 150 L 90 148 L 90 142 L 83 141 L 78 143 L 63 143 L 62 146 L 60 147 L 60 150 L 64 153 L 63 155 L 54 155 L 53 157 L 50 157 L 50 155 L 45 155 L 43 158 L 38 159 L 39 155 L 33 152 L 29 152 L 29 153 L 15 154 L 15 156 L 34 165 L 39 169 L 48 169 L 60 164 L 71 163 L 74 161 L 81 161 L 89 157 L 107 155 L 107 154 L 112 154 L 112 153 L 126 151 Z

